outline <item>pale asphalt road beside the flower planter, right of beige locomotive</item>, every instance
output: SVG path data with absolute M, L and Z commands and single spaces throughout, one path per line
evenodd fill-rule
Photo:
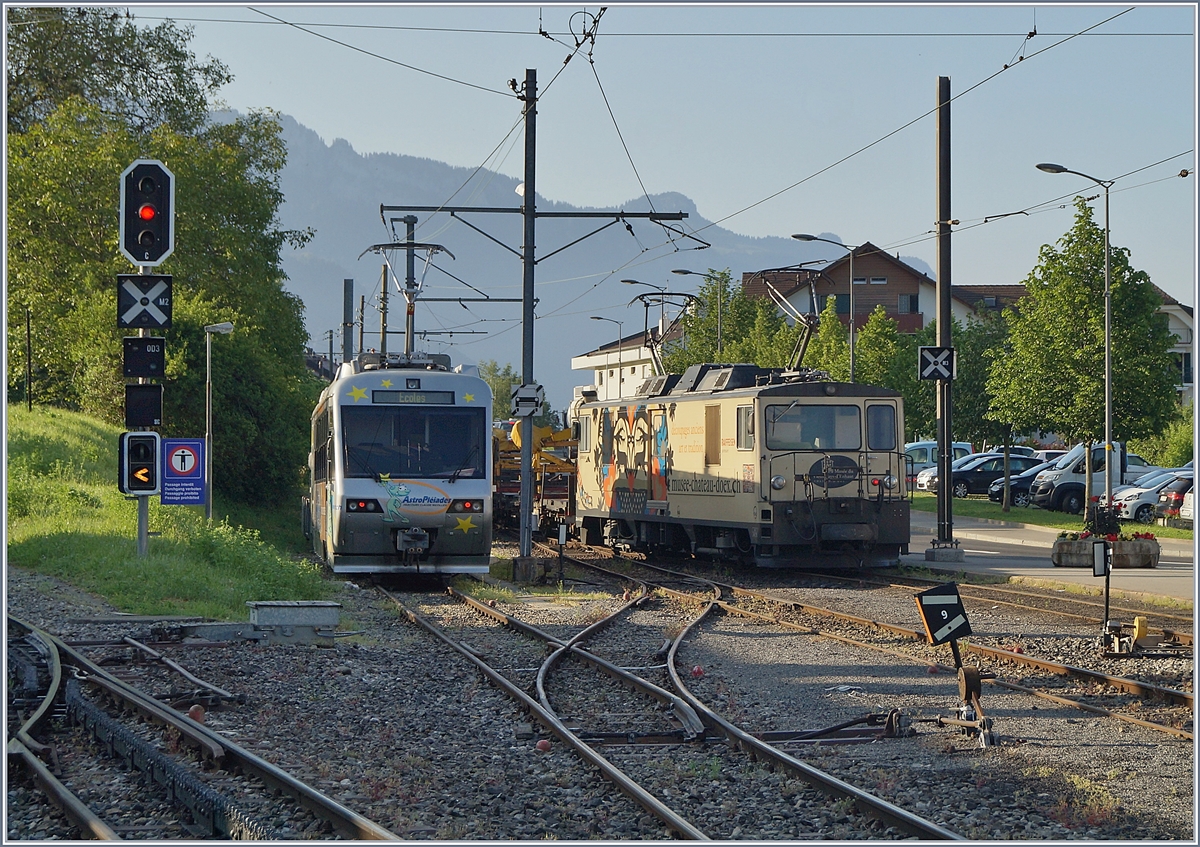
M 912 542 L 905 564 L 942 570 L 964 570 L 978 573 L 1008 573 L 1012 576 L 1063 583 L 1079 583 L 1104 588 L 1104 577 L 1092 576 L 1087 567 L 1055 567 L 1050 548 L 1058 536 L 1057 529 L 1025 523 L 954 518 L 954 539 L 965 552 L 962 563 L 928 563 L 925 551 L 936 536 L 937 515 L 912 512 Z M 1153 527 L 1148 528 L 1153 531 Z M 1194 600 L 1196 595 L 1195 548 L 1192 541 L 1163 539 L 1158 567 L 1114 569 L 1112 590 L 1130 594 L 1152 594 Z

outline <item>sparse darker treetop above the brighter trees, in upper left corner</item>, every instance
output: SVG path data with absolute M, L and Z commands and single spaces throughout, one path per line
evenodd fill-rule
M 138 28 L 104 7 L 10 6 L 5 76 L 10 133 L 28 132 L 70 97 L 144 133 L 160 125 L 194 132 L 210 97 L 233 77 L 187 48 L 192 29 L 166 22 Z

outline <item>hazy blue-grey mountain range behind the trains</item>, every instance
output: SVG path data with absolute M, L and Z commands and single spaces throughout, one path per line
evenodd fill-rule
M 316 132 L 287 115 L 281 122 L 288 161 L 281 174 L 286 202 L 280 209 L 280 222 L 287 229 L 311 227 L 316 230 L 313 240 L 302 250 L 284 248 L 283 269 L 289 277 L 288 290 L 305 302 L 311 346 L 318 352 L 329 350 L 330 330 L 335 332 L 335 353 L 341 352 L 343 280 L 354 280 L 355 319 L 359 299 L 366 298 L 366 347 L 379 347 L 383 256 L 364 252 L 373 245 L 406 238 L 404 224 L 396 223 L 394 233 L 380 215 L 380 205 L 520 208 L 521 198 L 516 193 L 520 180 L 511 176 L 414 156 L 358 154 L 343 139 L 326 144 Z M 590 374 L 570 370 L 570 358 L 616 338 L 617 328 L 607 322 L 592 322 L 589 316 L 601 314 L 622 322 L 620 331 L 625 336 L 644 325 L 646 314 L 640 304 L 629 308 L 623 306 L 636 294 L 650 289 L 623 286 L 620 280 L 636 278 L 653 286 L 668 286 L 671 290 L 695 292 L 700 277 L 673 276 L 670 271 L 682 268 L 703 272 L 728 268 L 734 281 L 739 281 L 744 271 L 833 259 L 844 252 L 821 242 L 800 244 L 785 238 L 732 233 L 713 226 L 698 214 L 695 203 L 674 192 L 655 194 L 649 202 L 643 197 L 618 209 L 600 210 L 539 196 L 536 209 L 539 212 L 653 210 L 688 215 L 683 221 L 666 224 L 676 232 L 644 218 L 617 223 L 578 217 L 538 220 L 534 377 L 546 388 L 552 408 L 559 410 L 570 402 L 572 386 L 590 382 Z M 404 214 L 390 212 L 388 218 Z M 418 217 L 416 241 L 440 245 L 454 257 L 438 252 L 432 257 L 432 265 L 426 268 L 425 251 L 416 253 L 415 278 L 422 284 L 422 296 L 463 298 L 462 302 L 418 302 L 415 328 L 430 335 L 424 341 L 418 340 L 416 349 L 450 353 L 455 364 L 493 359 L 502 366 L 509 362 L 520 372 L 521 304 L 467 299 L 478 299 L 481 293 L 496 299 L 521 298 L 522 216 L 409 214 Z M 589 235 L 598 229 L 599 233 Z M 829 233 L 822 236 L 836 240 Z M 710 246 L 704 247 L 706 242 Z M 404 251 L 386 251 L 386 254 L 392 272 L 403 281 Z M 904 260 L 932 276 L 919 259 L 904 257 Z M 404 302 L 395 284 L 389 292 L 388 312 L 388 349 L 402 350 L 404 338 L 396 331 L 404 329 Z M 656 314 L 658 310 L 653 312 Z M 356 328 L 354 332 L 358 350 Z

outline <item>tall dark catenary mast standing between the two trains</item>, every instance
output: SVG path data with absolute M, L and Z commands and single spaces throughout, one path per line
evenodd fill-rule
M 524 196 L 521 212 L 524 216 L 524 245 L 521 251 L 521 382 L 533 385 L 533 306 L 534 306 L 534 235 L 536 222 L 535 151 L 538 149 L 538 71 L 526 68 L 524 83 L 526 161 Z M 529 438 L 521 439 L 521 555 L 533 552 L 533 416 L 529 418 Z

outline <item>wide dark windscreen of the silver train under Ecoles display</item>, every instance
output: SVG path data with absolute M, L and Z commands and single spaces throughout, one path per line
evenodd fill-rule
M 460 479 L 486 474 L 484 409 L 342 407 L 346 475 Z

